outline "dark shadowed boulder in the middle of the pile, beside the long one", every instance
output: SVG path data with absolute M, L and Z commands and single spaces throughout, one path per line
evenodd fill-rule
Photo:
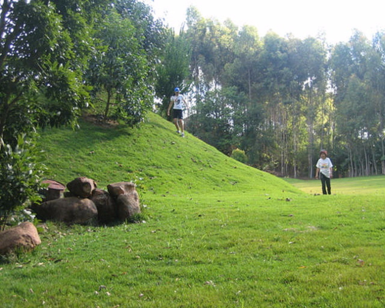
M 116 203 L 108 191 L 94 189 L 90 198 L 97 208 L 99 223 L 112 223 L 116 219 Z

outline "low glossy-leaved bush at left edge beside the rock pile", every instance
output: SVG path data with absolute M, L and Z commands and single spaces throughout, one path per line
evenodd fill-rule
M 44 165 L 38 160 L 33 140 L 19 136 L 15 147 L 6 144 L 0 151 L 0 229 L 10 215 L 40 199 L 38 189 Z M 30 203 L 27 203 L 30 202 Z

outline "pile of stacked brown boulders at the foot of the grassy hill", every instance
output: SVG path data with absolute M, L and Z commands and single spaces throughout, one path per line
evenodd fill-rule
M 131 182 L 109 184 L 108 191 L 97 188 L 93 179 L 77 177 L 67 184 L 69 192 L 58 182 L 46 181 L 49 186 L 44 202 L 32 206 L 41 220 L 84 224 L 97 218 L 99 223 L 125 221 L 140 213 L 139 196 Z

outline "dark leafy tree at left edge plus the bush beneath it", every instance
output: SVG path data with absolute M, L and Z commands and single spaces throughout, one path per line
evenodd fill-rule
M 74 124 L 87 102 L 83 72 L 92 49 L 88 21 L 97 19 L 90 16 L 98 2 L 0 2 L 2 228 L 13 211 L 36 198 L 42 166 L 30 132 Z

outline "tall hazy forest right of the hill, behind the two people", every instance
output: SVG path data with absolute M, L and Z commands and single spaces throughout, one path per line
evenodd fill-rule
M 254 27 L 190 8 L 172 39 L 164 64 L 187 54 L 180 81 L 193 102 L 187 130 L 199 138 L 279 176 L 313 177 L 320 149 L 336 176 L 385 173 L 384 33 L 370 41 L 354 30 L 334 46 L 323 37 L 260 38 Z

